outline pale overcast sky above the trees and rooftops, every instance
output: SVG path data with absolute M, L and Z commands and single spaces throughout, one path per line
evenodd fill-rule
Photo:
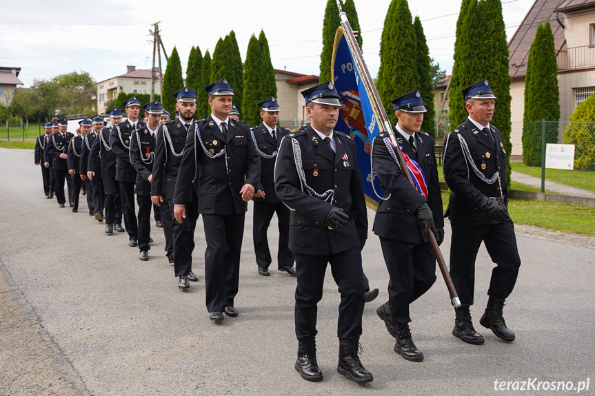
M 390 0 L 355 3 L 364 58 L 376 76 Z M 507 39 L 533 3 L 503 0 Z M 410 0 L 409 5 L 412 15 L 421 18 L 430 56 L 450 73 L 461 0 Z M 171 54 L 177 46 L 184 73 L 192 45 L 212 54 L 219 37 L 234 30 L 245 59 L 250 36 L 264 29 L 273 67 L 317 75 L 325 6 L 325 0 L 2 1 L 0 66 L 21 67 L 19 79 L 26 87 L 35 79 L 81 70 L 103 81 L 124 74 L 126 65 L 150 68 L 149 30 L 152 23 L 160 22 L 165 49 Z

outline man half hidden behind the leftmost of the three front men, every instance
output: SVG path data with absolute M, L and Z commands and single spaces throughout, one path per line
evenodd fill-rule
M 250 130 L 250 137 L 254 140 L 256 151 L 261 156 L 261 185 L 257 188 L 252 201 L 254 202 L 254 219 L 252 220 L 252 237 L 254 239 L 254 253 L 259 274 L 270 275 L 269 266 L 272 262 L 267 230 L 271 219 L 276 213 L 279 224 L 279 250 L 277 252 L 277 268 L 292 276 L 296 275 L 293 266 L 293 253 L 288 247 L 290 210 L 277 198 L 274 185 L 274 169 L 279 144 L 283 137 L 290 133 L 277 125 L 279 123 L 279 103 L 270 97 L 258 104 L 261 108 L 261 125 Z

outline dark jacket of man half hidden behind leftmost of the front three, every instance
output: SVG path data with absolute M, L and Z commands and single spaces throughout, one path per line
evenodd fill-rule
M 264 123 L 261 123 L 261 125 L 258 127 L 252 128 L 251 132 L 254 134 L 254 139 L 256 139 L 256 151 L 263 152 L 269 156 L 279 150 L 279 145 L 281 145 L 281 140 L 283 140 L 283 137 L 291 133 L 289 129 L 285 129 L 277 125 L 277 141 L 275 143 Z M 252 138 L 252 136 L 250 136 L 250 138 Z M 263 189 L 265 191 L 265 198 L 254 197 L 252 200 L 255 202 L 269 203 L 281 202 L 281 200 L 279 200 L 275 194 L 274 173 L 276 157 L 264 158 L 260 153 L 259 156 L 261 158 L 261 184 L 256 189 Z

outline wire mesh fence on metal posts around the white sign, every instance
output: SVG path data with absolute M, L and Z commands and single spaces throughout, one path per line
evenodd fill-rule
M 595 123 L 512 123 L 510 140 L 511 189 L 595 198 Z

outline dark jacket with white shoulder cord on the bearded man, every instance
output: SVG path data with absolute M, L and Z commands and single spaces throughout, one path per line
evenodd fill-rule
M 166 136 L 166 132 L 170 138 Z M 187 136 L 188 132 L 179 118 L 174 121 L 165 121 L 159 125 L 155 137 L 152 196 L 163 196 L 167 200 L 174 199 L 178 169 L 182 163 L 182 156 L 175 154 L 183 154 Z M 194 183 L 197 183 L 196 180 Z M 188 200 L 192 199 L 192 194 L 193 192 L 190 190 Z

